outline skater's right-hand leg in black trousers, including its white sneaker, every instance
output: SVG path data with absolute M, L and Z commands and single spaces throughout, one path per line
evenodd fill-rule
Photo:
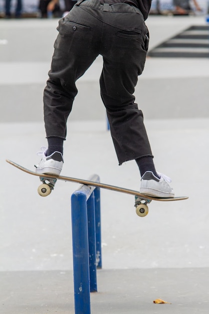
M 126 16 L 127 28 L 123 16 Z M 142 177 L 141 193 L 173 197 L 165 177 L 155 170 L 143 114 L 133 96 L 138 75 L 144 68 L 148 30 L 138 14 L 118 14 L 114 21 L 120 18 L 120 29 L 109 23 L 104 25 L 101 48 L 104 66 L 100 78 L 101 96 L 118 161 L 121 165 L 125 161 L 136 160 Z

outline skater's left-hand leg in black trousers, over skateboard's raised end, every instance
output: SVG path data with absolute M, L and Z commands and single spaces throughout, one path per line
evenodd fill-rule
M 63 140 L 67 134 L 66 123 L 77 94 L 75 82 L 98 56 L 102 32 L 100 23 L 79 7 L 74 7 L 59 21 L 59 34 L 55 41 L 49 79 L 44 90 L 48 149 L 43 153 L 44 163 L 41 167 L 36 166 L 39 173 L 45 172 L 45 164 L 49 173 L 47 164 L 53 161 L 49 161 L 47 157 L 53 159 L 53 152 L 60 152 L 62 155 Z M 57 156 L 56 153 L 56 158 Z M 60 157 L 59 159 L 61 172 L 63 160 Z

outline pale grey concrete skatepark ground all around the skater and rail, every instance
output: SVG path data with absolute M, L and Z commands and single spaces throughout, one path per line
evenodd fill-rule
M 5 162 L 33 169 L 46 145 L 42 94 L 57 20 L 0 20 L 0 310 L 4 314 L 74 313 L 70 197 L 58 182 L 47 198 L 39 182 Z M 204 17 L 150 17 L 150 48 Z M 63 175 L 137 190 L 135 162 L 117 166 L 99 98 L 102 60 L 78 82 L 68 121 Z M 92 313 L 208 312 L 208 59 L 147 59 L 135 91 L 158 171 L 181 202 L 135 214 L 133 197 L 101 191 L 102 262 Z M 154 304 L 162 298 L 171 304 Z

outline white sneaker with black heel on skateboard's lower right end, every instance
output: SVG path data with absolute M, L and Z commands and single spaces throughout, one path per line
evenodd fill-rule
M 157 174 L 160 179 L 155 177 L 151 171 L 145 172 L 141 178 L 140 193 L 153 197 L 173 198 L 173 189 L 168 184 L 171 182 L 171 179 L 163 174 Z

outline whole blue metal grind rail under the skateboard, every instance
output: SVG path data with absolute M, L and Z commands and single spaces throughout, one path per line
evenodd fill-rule
M 82 185 L 75 191 L 71 216 L 75 314 L 90 314 L 90 292 L 97 291 L 97 268 L 102 268 L 100 189 Z

